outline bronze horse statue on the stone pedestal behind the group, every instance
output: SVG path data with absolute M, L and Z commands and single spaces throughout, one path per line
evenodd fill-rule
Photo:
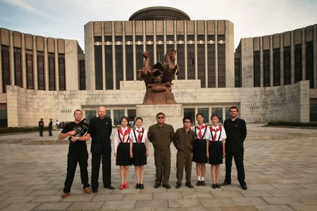
M 143 68 L 137 70 L 138 79 L 144 80 L 147 92 L 143 104 L 174 104 L 175 98 L 172 93 L 173 76 L 179 72 L 178 65 L 174 65 L 176 50 L 166 52 L 165 63 L 156 63 L 150 67 L 149 51 L 143 52 Z

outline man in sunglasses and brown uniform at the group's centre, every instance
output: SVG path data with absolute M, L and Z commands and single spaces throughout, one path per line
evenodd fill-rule
M 170 143 L 173 141 L 174 129 L 170 124 L 165 123 L 165 115 L 156 115 L 157 124 L 149 127 L 147 138 L 154 146 L 154 161 L 156 167 L 156 180 L 154 188 L 162 186 L 170 189 Z M 163 177 L 162 177 L 163 176 Z M 163 179 L 163 181 L 162 181 Z

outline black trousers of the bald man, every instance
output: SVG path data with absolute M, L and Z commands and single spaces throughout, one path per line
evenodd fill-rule
M 104 187 L 111 186 L 111 146 L 103 153 L 92 153 L 92 189 L 99 187 L 99 169 L 102 160 L 102 181 Z

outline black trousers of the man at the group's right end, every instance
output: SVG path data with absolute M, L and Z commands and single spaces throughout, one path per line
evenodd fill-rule
M 240 185 L 245 185 L 245 174 L 243 165 L 243 152 L 239 153 L 227 153 L 225 152 L 225 181 L 231 182 L 231 166 L 232 157 L 235 159 L 235 167 L 237 167 L 237 179 Z

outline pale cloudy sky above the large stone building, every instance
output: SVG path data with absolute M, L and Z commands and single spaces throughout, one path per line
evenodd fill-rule
M 85 50 L 84 25 L 128 20 L 149 6 L 170 6 L 191 20 L 230 20 L 235 48 L 241 38 L 295 30 L 317 23 L 316 0 L 0 0 L 0 27 L 27 34 L 76 39 Z

